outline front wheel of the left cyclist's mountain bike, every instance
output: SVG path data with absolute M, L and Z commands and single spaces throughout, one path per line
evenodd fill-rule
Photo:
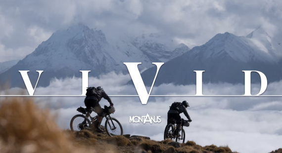
M 121 123 L 114 117 L 107 118 L 105 122 L 105 129 L 110 137 L 115 135 L 123 135 L 123 128 L 121 126 Z

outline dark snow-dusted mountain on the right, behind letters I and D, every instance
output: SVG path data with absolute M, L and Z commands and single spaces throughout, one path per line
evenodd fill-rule
M 217 34 L 204 45 L 196 46 L 182 56 L 165 63 L 159 70 L 155 85 L 162 83 L 195 84 L 193 71 L 205 71 L 203 82 L 244 83 L 244 70 L 260 71 L 268 82 L 282 79 L 282 44 L 263 28 L 249 35 Z M 151 86 L 156 67 L 144 71 L 144 83 Z M 252 82 L 259 82 L 252 74 Z M 132 82 L 132 81 L 131 81 Z

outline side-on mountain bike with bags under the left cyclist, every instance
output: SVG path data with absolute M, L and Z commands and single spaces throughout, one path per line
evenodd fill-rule
M 102 117 L 106 117 L 105 121 L 105 131 L 107 134 L 112 137 L 114 135 L 123 135 L 123 128 L 121 123 L 114 117 L 110 116 L 108 112 L 108 107 L 104 106 Z M 78 112 L 82 113 L 82 115 L 75 115 L 72 117 L 70 122 L 71 131 L 80 131 L 83 129 L 95 129 L 95 125 L 97 122 L 98 115 L 92 117 L 89 116 L 91 121 L 85 116 L 87 113 L 91 113 L 91 111 L 95 112 L 93 108 L 85 109 L 85 108 L 78 108 Z M 84 115 L 85 114 L 85 115 Z M 99 123 L 100 126 L 101 122 Z

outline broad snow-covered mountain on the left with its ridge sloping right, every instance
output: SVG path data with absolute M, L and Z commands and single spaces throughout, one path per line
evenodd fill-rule
M 148 38 L 106 38 L 102 31 L 79 24 L 52 34 L 34 52 L 0 74 L 0 79 L 4 82 L 11 76 L 11 86 L 24 87 L 19 70 L 30 71 L 33 84 L 38 78 L 36 71 L 43 70 L 38 85 L 47 86 L 53 77 L 81 77 L 82 70 L 91 71 L 89 76 L 128 73 L 124 62 L 142 62 L 140 70 L 150 68 L 152 62 L 165 62 L 189 50 L 184 44 L 162 42 L 163 38 L 153 34 Z

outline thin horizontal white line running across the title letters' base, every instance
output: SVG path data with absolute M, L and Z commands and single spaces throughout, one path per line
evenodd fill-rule
M 110 97 L 139 97 L 139 95 L 109 95 Z M 0 97 L 85 97 L 85 95 L 0 95 Z M 150 95 L 150 97 L 282 97 L 282 95 Z

